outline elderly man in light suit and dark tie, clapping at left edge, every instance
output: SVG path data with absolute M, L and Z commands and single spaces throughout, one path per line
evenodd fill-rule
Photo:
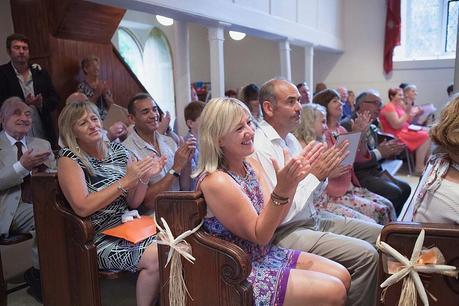
M 44 139 L 27 136 L 32 126 L 32 110 L 19 97 L 6 99 L 0 108 L 0 235 L 34 230 L 30 174 L 55 161 L 51 145 Z M 40 299 L 38 253 L 32 249 L 34 268 L 26 281 Z

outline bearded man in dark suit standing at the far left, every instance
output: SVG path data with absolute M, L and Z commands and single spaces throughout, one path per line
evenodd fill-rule
M 6 50 L 11 61 L 0 66 L 0 101 L 14 96 L 22 98 L 32 109 L 33 126 L 29 136 L 46 139 L 55 147 L 57 125 L 54 121 L 59 96 L 49 74 L 38 64 L 29 65 L 26 36 L 8 36 Z

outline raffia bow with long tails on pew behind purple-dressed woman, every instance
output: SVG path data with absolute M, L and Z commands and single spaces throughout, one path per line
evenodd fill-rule
M 201 227 L 203 221 L 194 229 L 183 232 L 177 236 L 177 238 L 174 238 L 174 235 L 172 235 L 171 229 L 164 218 L 161 218 L 161 222 L 163 223 L 164 229 L 156 223 L 156 227 L 159 230 L 157 234 L 157 243 L 170 247 L 166 262 L 166 267 L 169 262 L 171 263 L 169 275 L 169 305 L 184 306 L 186 302 L 185 292 L 188 296 L 190 296 L 190 293 L 188 292 L 185 279 L 183 278 L 180 255 L 189 262 L 194 263 L 196 259 L 191 255 L 191 246 L 185 241 L 185 238 L 195 233 Z

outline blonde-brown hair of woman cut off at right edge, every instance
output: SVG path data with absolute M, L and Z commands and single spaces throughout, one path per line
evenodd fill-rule
M 459 95 L 442 110 L 439 120 L 430 129 L 430 137 L 448 152 L 459 151 Z

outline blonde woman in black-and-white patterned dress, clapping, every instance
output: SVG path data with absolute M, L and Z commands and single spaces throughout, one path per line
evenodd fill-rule
M 98 110 L 89 101 L 62 110 L 59 133 L 65 145 L 58 161 L 59 184 L 75 213 L 94 225 L 99 268 L 140 271 L 137 305 L 153 305 L 159 289 L 155 237 L 132 244 L 101 232 L 121 224 L 125 210 L 142 203 L 144 182 L 161 170 L 164 158 L 128 162 L 121 144 L 103 141 Z

